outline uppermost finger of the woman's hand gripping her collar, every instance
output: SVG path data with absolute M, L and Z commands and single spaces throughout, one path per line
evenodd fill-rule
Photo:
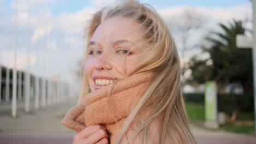
M 90 135 L 94 134 L 97 130 L 100 130 L 101 127 L 101 125 L 91 125 L 89 127 L 86 127 L 85 129 L 75 134 L 74 141 L 79 141 L 86 137 L 89 137 Z

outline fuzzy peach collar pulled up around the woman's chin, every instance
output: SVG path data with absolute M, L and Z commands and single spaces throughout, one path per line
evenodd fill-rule
M 82 103 L 69 110 L 62 124 L 80 131 L 90 125 L 118 122 L 129 115 L 153 77 L 153 72 L 139 73 L 118 81 L 113 89 L 108 85 L 85 95 Z

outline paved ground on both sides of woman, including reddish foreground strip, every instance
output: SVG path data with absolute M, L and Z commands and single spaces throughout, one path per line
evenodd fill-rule
M 76 100 L 70 99 L 46 109 L 26 113 L 24 104 L 19 103 L 17 118 L 11 118 L 10 104 L 0 104 L 0 143 L 72 143 L 75 132 L 64 127 L 61 119 L 75 104 Z M 256 143 L 256 136 L 209 131 L 194 125 L 191 125 L 191 129 L 199 144 Z

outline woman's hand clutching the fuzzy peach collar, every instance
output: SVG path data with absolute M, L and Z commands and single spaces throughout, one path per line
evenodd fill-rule
M 73 139 L 73 144 L 107 144 L 108 133 L 104 125 L 91 125 L 77 134 Z

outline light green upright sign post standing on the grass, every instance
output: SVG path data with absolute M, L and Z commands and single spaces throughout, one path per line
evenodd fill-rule
M 218 128 L 218 107 L 216 82 L 208 81 L 205 84 L 205 126 Z

